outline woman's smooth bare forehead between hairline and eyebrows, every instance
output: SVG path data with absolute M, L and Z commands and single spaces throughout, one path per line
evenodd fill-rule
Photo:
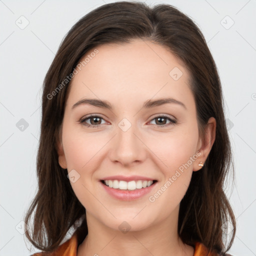
M 123 98 L 127 104 L 143 98 L 191 96 L 186 67 L 167 47 L 155 42 L 136 39 L 102 44 L 89 50 L 79 63 L 69 84 L 68 105 L 83 97 Z

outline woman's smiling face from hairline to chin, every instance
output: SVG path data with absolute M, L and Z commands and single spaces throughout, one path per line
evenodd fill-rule
M 70 172 L 86 214 L 105 226 L 141 230 L 176 220 L 192 171 L 206 158 L 188 71 L 165 47 L 149 41 L 93 50 L 71 80 L 59 164 Z M 76 104 L 85 99 L 94 101 Z M 91 114 L 96 117 L 87 118 Z M 107 187 L 104 179 L 117 180 L 108 184 L 123 189 Z M 157 181 L 139 188 L 150 185 L 143 180 Z

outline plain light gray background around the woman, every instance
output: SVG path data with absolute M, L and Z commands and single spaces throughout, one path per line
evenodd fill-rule
M 24 235 L 18 230 L 37 187 L 35 160 L 42 81 L 71 26 L 90 10 L 108 2 L 0 0 L 0 255 L 38 251 L 29 252 Z M 205 36 L 223 86 L 236 172 L 233 189 L 231 183 L 226 189 L 237 221 L 229 253 L 256 255 L 256 1 L 146 3 L 178 7 Z M 21 29 L 26 19 L 29 24 Z M 28 123 L 23 131 L 16 125 L 21 118 Z

